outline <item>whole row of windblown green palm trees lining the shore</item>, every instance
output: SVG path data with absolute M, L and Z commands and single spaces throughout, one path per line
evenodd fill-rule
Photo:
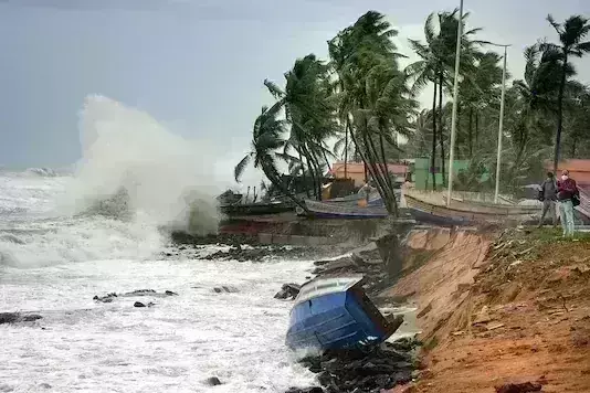
M 256 118 L 252 149 L 235 167 L 236 180 L 253 163 L 274 189 L 288 192 L 277 169 L 284 161 L 292 177 L 310 184 L 308 197 L 319 198 L 329 160 L 344 157 L 366 163 L 389 212 L 396 214 L 384 163 L 398 158 L 430 157 L 433 162 L 436 155 L 442 161 L 449 158 L 455 46 L 459 23 L 465 28 L 467 19 L 465 14 L 460 21 L 457 10 L 431 13 L 424 23 L 425 41 L 410 40 L 419 61 L 401 70 L 403 54 L 392 41 L 398 32 L 383 14 L 369 11 L 328 41 L 328 62 L 309 54 L 295 61 L 284 84 L 265 81 L 276 103 Z M 580 15 L 563 23 L 551 17 L 548 21 L 558 42 L 539 40 L 526 47 L 524 78 L 507 83 L 503 192 L 537 182 L 551 150 L 554 159 L 559 153 L 590 156 L 590 88 L 575 79 L 571 63 L 590 51 L 584 41 L 590 22 Z M 495 181 L 503 54 L 477 39 L 481 29 L 463 31 L 455 157 L 472 164 L 459 173 L 455 184 L 486 191 Z M 419 108 L 415 97 L 429 84 L 434 86 L 432 107 Z M 400 135 L 408 139 L 405 146 L 398 146 Z M 336 140 L 334 149 L 329 140 Z M 482 181 L 484 173 L 487 180 Z

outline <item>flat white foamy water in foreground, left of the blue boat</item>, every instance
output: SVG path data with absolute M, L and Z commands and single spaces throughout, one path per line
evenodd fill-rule
M 284 344 L 289 301 L 278 283 L 302 280 L 310 264 L 206 261 L 95 261 L 7 268 L 0 310 L 41 310 L 33 327 L 0 326 L 0 381 L 14 392 L 42 383 L 69 392 L 284 392 L 313 375 Z M 236 294 L 215 294 L 231 285 Z M 178 297 L 94 295 L 140 288 Z M 134 301 L 154 301 L 137 309 Z M 41 327 L 45 327 L 42 330 Z M 203 381 L 218 376 L 224 384 Z

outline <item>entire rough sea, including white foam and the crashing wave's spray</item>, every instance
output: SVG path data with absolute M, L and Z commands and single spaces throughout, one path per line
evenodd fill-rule
M 71 170 L 0 170 L 0 312 L 43 317 L 0 325 L 0 392 L 314 384 L 284 343 L 292 304 L 273 298 L 313 262 L 203 258 L 220 245 L 171 252 L 162 226 L 208 233 L 219 220 L 215 179 L 194 164 L 203 147 L 101 96 L 86 99 L 80 123 L 83 158 Z M 238 291 L 213 290 L 223 285 Z M 137 289 L 178 296 L 146 308 L 93 300 Z M 212 376 L 222 384 L 210 386 Z

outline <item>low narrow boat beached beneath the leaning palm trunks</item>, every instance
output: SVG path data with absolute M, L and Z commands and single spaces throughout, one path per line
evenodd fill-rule
M 383 219 L 388 216 L 387 209 L 381 204 L 359 206 L 348 203 L 327 203 L 305 200 L 307 212 L 296 208 L 298 215 L 317 219 Z

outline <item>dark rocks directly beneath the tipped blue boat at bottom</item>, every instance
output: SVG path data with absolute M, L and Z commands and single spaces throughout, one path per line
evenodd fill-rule
M 413 349 L 418 344 L 415 340 L 400 340 L 355 350 L 326 351 L 301 362 L 318 374 L 318 381 L 327 393 L 377 393 L 412 380 L 417 368 Z

